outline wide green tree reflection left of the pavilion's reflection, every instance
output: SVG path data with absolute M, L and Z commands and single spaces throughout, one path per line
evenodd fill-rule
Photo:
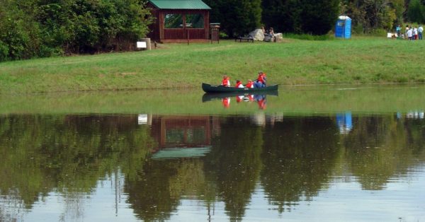
M 135 177 L 154 141 L 137 117 L 0 117 L 0 194 L 30 208 L 53 190 L 75 199 L 117 166 Z M 130 130 L 129 130 L 130 129 Z M 140 147 L 140 144 L 145 146 Z M 71 202 L 71 201 L 69 201 Z

